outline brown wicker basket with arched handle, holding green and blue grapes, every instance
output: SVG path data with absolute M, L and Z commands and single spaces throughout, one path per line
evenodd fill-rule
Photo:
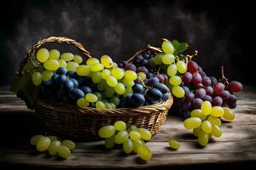
M 49 37 L 39 41 L 28 51 L 20 63 L 20 74 L 22 74 L 22 68 L 27 59 L 46 42 L 73 44 L 90 58 L 90 53 L 84 49 L 81 43 L 67 37 Z M 160 125 L 166 121 L 167 112 L 171 106 L 172 96 L 167 101 L 154 105 L 108 110 L 90 107 L 82 109 L 75 105 L 37 99 L 34 103 L 34 110 L 46 126 L 55 133 L 78 139 L 97 139 L 97 131 L 100 127 L 118 120 L 127 124 L 136 124 L 138 127 L 145 127 L 154 135 L 159 130 Z

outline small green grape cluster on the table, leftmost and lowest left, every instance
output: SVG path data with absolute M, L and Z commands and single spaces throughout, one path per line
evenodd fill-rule
M 71 155 L 76 145 L 71 140 L 60 141 L 55 136 L 35 135 L 30 139 L 30 143 L 35 145 L 40 152 L 48 150 L 50 156 L 61 156 L 67 159 Z

